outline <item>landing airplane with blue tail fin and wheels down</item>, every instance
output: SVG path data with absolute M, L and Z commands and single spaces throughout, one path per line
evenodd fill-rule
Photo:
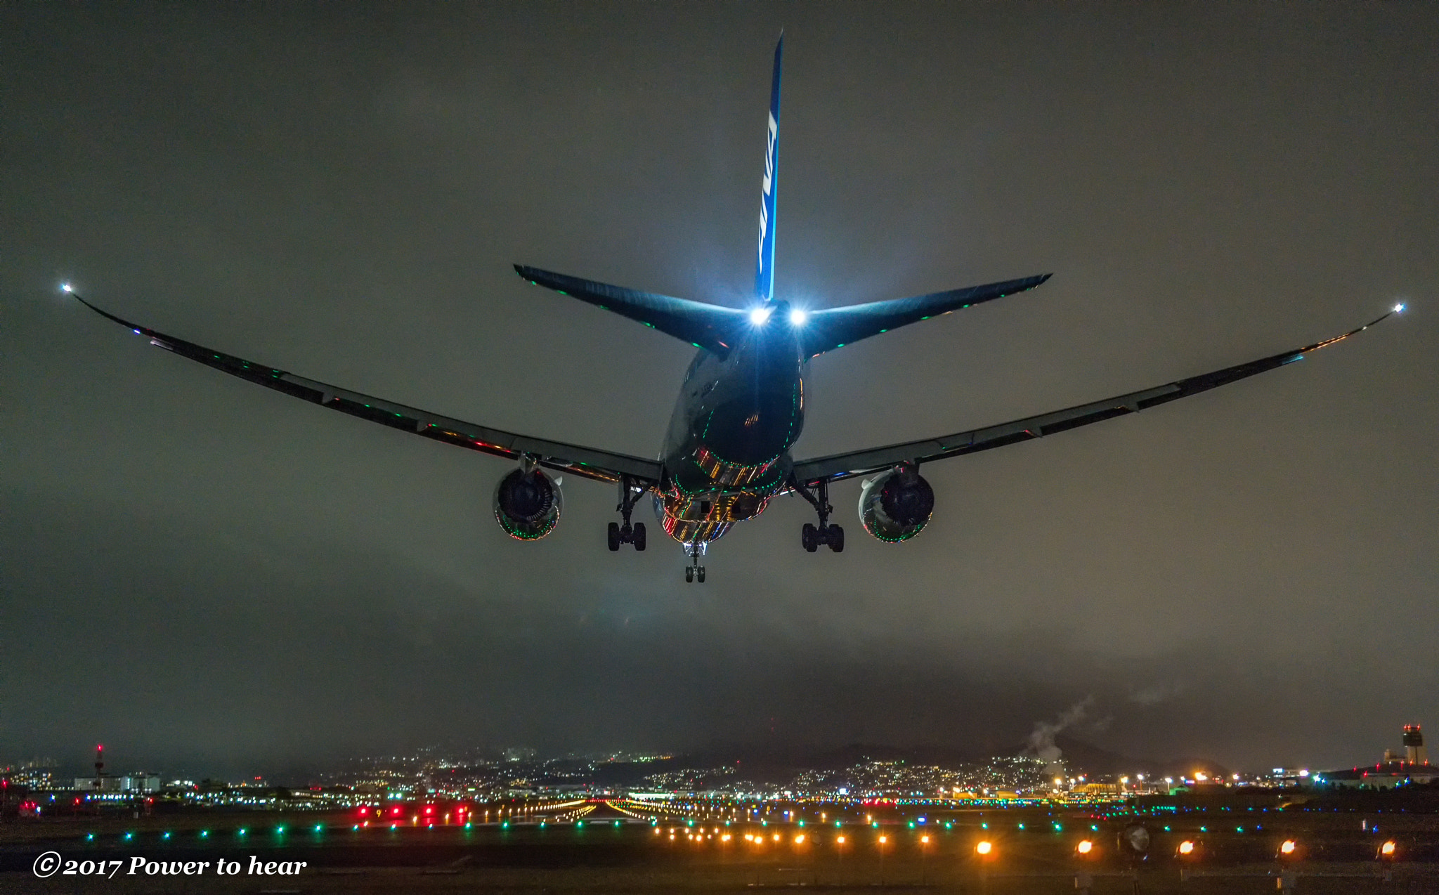
M 1301 360 L 1403 311 L 1403 305 L 1396 305 L 1343 335 L 1153 389 L 918 442 L 794 460 L 790 448 L 804 424 L 804 374 L 812 358 L 908 324 L 1033 289 L 1049 275 L 827 309 L 776 298 L 774 214 L 783 52 L 781 33 L 774 47 L 754 302 L 748 308 L 640 292 L 515 265 L 515 272 L 534 285 L 627 317 L 698 350 L 685 373 L 656 459 L 502 432 L 309 380 L 132 324 L 75 295 L 69 283 L 62 289 L 106 319 L 147 337 L 151 345 L 180 357 L 321 407 L 517 460 L 517 468 L 499 479 L 494 494 L 495 519 L 517 540 L 534 541 L 554 531 L 563 509 L 563 475 L 573 475 L 617 486 L 620 521 L 609 524 L 609 548 L 617 551 L 629 544 L 645 550 L 645 524 L 630 517 L 645 495 L 650 495 L 665 534 L 682 544 L 689 558 L 685 580 L 701 583 L 705 567 L 699 558 L 709 542 L 735 522 L 763 514 L 776 496 L 799 495 L 814 508 L 819 524 L 806 522 L 800 530 L 806 551 L 829 547 L 842 553 L 845 530 L 829 521 L 833 514 L 829 488 L 865 476 L 859 491 L 861 527 L 881 541 L 907 541 L 924 530 L 934 512 L 934 489 L 920 475 L 924 465 L 1199 394 Z

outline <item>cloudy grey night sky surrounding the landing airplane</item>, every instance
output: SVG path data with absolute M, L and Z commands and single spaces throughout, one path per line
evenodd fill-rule
M 781 498 L 704 586 L 610 486 L 206 370 L 653 456 L 694 350 L 511 263 L 741 305 L 786 29 L 776 294 L 1053 272 L 820 357 L 796 456 L 1325 338 L 1302 364 L 927 466 L 842 555 Z M 1439 734 L 1429 4 L 7 4 L 0 760 L 246 771 L 426 742 L 1013 751 L 1243 768 Z M 1088 702 L 1086 702 L 1088 701 Z M 1071 715 L 1078 712 L 1071 712 Z M 124 765 L 124 767 L 121 767 Z

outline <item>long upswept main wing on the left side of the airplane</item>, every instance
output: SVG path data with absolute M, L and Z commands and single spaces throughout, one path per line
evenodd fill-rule
M 66 291 L 69 292 L 69 289 Z M 71 295 L 75 294 L 71 292 Z M 341 413 L 348 413 L 350 416 L 357 416 L 360 419 L 370 420 L 371 423 L 380 423 L 383 426 L 389 426 L 390 429 L 400 429 L 436 442 L 445 442 L 448 445 L 456 445 L 459 448 L 468 448 L 471 450 L 494 456 L 518 459 L 528 455 L 538 460 L 541 466 L 548 469 L 568 472 L 571 475 L 597 479 L 602 482 L 617 482 L 622 476 L 629 476 L 636 485 L 650 486 L 658 483 L 661 478 L 661 466 L 656 460 L 646 460 L 643 458 L 630 456 L 627 453 L 614 453 L 612 450 L 600 450 L 597 448 L 566 445 L 563 442 L 515 435 L 514 432 L 491 429 L 478 423 L 466 423 L 465 420 L 458 420 L 439 413 L 430 413 L 429 410 L 420 410 L 419 407 L 397 404 L 380 397 L 350 391 L 348 389 L 340 389 L 338 386 L 319 383 L 302 376 L 295 376 L 294 373 L 275 370 L 273 367 L 266 367 L 265 364 L 248 361 L 243 357 L 235 357 L 233 354 L 224 354 L 213 348 L 206 348 L 204 345 L 189 342 L 183 338 L 157 332 L 148 327 L 141 327 L 127 319 L 121 319 L 106 311 L 101 311 L 79 295 L 75 295 L 75 298 L 101 317 L 132 330 L 135 335 L 148 337 L 151 345 L 204 364 L 206 367 L 213 367 L 220 373 L 229 373 L 230 376 L 239 377 L 248 383 L 265 386 L 266 389 L 273 389 L 275 391 L 281 391 L 291 397 L 298 397 L 331 410 L 340 410 Z

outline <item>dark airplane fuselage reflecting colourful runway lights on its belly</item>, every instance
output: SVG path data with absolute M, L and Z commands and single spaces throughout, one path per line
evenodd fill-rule
M 778 321 L 727 354 L 699 350 L 665 436 L 656 514 L 684 544 L 722 537 L 784 488 L 804 426 L 804 360 Z

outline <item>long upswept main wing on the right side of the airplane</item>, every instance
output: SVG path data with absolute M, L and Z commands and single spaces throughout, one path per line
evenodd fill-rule
M 1147 410 L 1148 407 L 1166 404 L 1181 397 L 1189 397 L 1190 394 L 1199 394 L 1200 391 L 1209 391 L 1210 389 L 1227 386 L 1229 383 L 1248 378 L 1258 373 L 1265 373 L 1266 370 L 1274 370 L 1275 367 L 1304 360 L 1304 355 L 1311 351 L 1318 351 L 1320 348 L 1333 345 L 1334 342 L 1343 341 L 1357 332 L 1363 332 L 1402 309 L 1403 305 L 1397 305 L 1389 314 L 1384 314 L 1377 319 L 1371 319 L 1363 327 L 1350 330 L 1343 335 L 1327 338 L 1322 342 L 1314 342 L 1312 345 L 1284 351 L 1281 354 L 1271 354 L 1269 357 L 1263 357 L 1256 361 L 1225 367 L 1223 370 L 1215 370 L 1213 373 L 1202 373 L 1199 376 L 1181 378 L 1164 386 L 1156 386 L 1154 389 L 1131 391 L 1128 394 L 1120 394 L 1102 401 L 1092 401 L 1088 404 L 1079 404 L 1078 407 L 1069 407 L 1066 410 L 1029 416 L 1020 420 L 1000 423 L 999 426 L 989 426 L 986 429 L 971 429 L 968 432 L 957 432 L 954 435 L 944 435 L 920 442 L 905 442 L 902 445 L 888 445 L 885 448 L 872 448 L 869 450 L 852 450 L 849 453 L 836 453 L 832 456 L 814 458 L 812 460 L 799 460 L 794 463 L 794 481 L 802 485 L 837 482 L 840 479 L 889 469 L 899 463 L 928 463 L 931 460 L 943 460 L 944 458 L 960 456 L 964 453 L 1003 448 L 1004 445 L 1027 442 L 1046 435 L 1053 435 L 1056 432 L 1078 429 L 1079 426 L 1088 426 L 1089 423 L 1098 423 L 1101 420 L 1125 416 L 1138 410 Z

